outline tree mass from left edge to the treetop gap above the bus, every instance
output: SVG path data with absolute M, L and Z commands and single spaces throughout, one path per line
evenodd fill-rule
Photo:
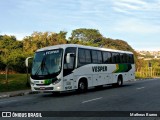
M 34 52 L 42 47 L 65 44 L 67 32 L 34 32 L 26 36 L 23 41 L 17 41 L 15 36 L 0 36 L 0 71 L 6 66 L 18 73 L 26 72 L 24 61 L 33 56 Z

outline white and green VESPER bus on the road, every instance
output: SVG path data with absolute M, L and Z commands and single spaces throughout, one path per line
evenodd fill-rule
M 132 52 L 62 44 L 36 51 L 30 77 L 32 91 L 86 91 L 135 79 Z

